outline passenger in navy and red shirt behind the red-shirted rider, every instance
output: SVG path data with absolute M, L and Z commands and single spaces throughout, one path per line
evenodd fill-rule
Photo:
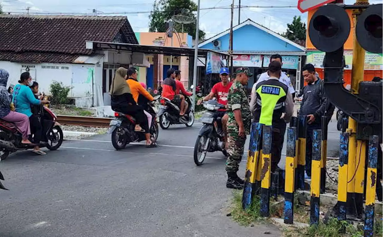
M 180 116 L 185 115 L 185 97 L 181 94 L 175 94 L 177 88 L 175 83 L 175 70 L 174 68 L 169 68 L 166 72 L 167 78 L 162 84 L 162 97 L 170 99 L 170 101 L 180 108 Z

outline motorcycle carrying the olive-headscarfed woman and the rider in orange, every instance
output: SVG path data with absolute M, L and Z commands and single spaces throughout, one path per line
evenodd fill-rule
M 159 99 L 160 96 L 155 96 L 154 100 Z M 150 125 L 150 135 L 152 141 L 157 141 L 158 138 L 158 125 L 156 122 L 156 114 L 154 112 L 153 102 L 148 102 L 149 114 L 152 115 L 152 124 Z M 123 114 L 121 111 L 115 110 L 115 119 L 110 121 L 110 128 L 107 131 L 111 134 L 112 145 L 116 150 L 121 150 L 131 142 L 145 141 L 145 133 L 142 131 L 134 131 L 136 127 L 136 119 L 128 114 Z

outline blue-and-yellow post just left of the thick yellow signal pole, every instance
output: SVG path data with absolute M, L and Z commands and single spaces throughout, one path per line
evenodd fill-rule
M 347 172 L 349 164 L 349 133 L 340 134 L 338 171 L 338 220 L 345 221 L 347 213 Z

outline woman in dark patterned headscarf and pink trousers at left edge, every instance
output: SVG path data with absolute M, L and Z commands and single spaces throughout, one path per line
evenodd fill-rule
M 28 140 L 28 136 L 31 134 L 28 116 L 10 109 L 11 100 L 6 88 L 8 77 L 8 71 L 0 69 L 0 119 L 15 123 L 23 135 L 21 143 L 31 144 L 31 141 Z

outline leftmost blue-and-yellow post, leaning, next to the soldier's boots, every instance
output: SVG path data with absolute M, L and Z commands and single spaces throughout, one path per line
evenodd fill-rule
M 262 124 L 253 123 L 250 133 L 249 154 L 247 156 L 247 165 L 245 173 L 245 185 L 242 196 L 242 208 L 250 207 L 254 195 L 259 192 L 260 183 L 257 181 L 257 168 L 260 162 L 260 147 L 262 138 Z

